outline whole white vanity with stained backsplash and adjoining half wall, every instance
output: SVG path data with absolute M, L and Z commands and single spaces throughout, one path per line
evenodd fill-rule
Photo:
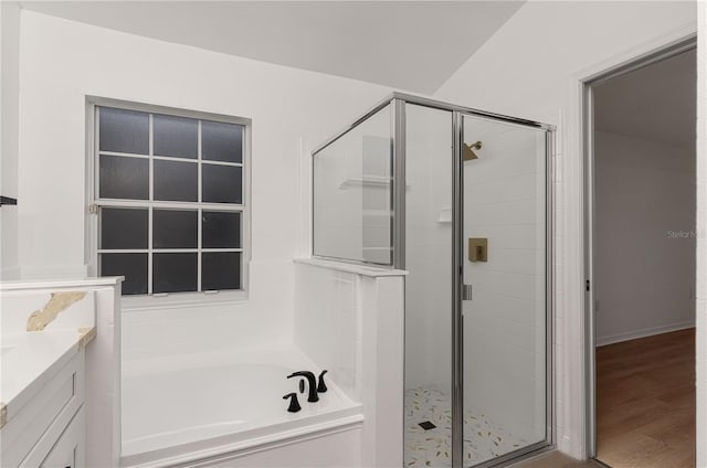
M 0 468 L 120 465 L 122 280 L 0 281 Z

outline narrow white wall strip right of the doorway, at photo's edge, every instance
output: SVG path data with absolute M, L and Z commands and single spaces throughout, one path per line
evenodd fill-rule
M 707 3 L 698 6 L 697 38 L 697 440 L 707 440 Z M 707 467 L 707 444 L 697 444 Z

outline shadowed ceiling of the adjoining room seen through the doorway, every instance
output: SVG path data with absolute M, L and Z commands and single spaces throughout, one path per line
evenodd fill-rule
M 594 126 L 665 145 L 695 146 L 697 53 L 611 78 L 594 88 Z

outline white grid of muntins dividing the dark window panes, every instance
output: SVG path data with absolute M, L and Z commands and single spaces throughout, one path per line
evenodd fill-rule
M 244 260 L 245 260 L 245 248 L 243 247 L 245 242 L 244 236 L 244 226 L 245 226 L 245 203 L 247 200 L 247 185 L 246 185 L 246 173 L 244 170 L 241 171 L 241 203 L 228 203 L 228 202 L 213 202 L 213 203 L 203 203 L 202 202 L 202 164 L 212 164 L 212 166 L 230 166 L 230 167 L 240 167 L 242 169 L 245 168 L 246 162 L 246 124 L 244 123 L 233 123 L 228 120 L 214 120 L 214 119 L 203 119 L 198 117 L 188 117 L 198 123 L 198 152 L 197 159 L 188 159 L 188 158 L 176 158 L 176 157 L 162 157 L 155 156 L 154 153 L 154 111 L 149 110 L 138 110 L 148 114 L 148 138 L 149 138 L 149 151 L 148 155 L 140 153 L 129 153 L 129 152 L 116 152 L 116 151 L 101 151 L 101 108 L 102 107 L 110 107 L 110 106 L 96 106 L 95 113 L 95 128 L 94 128 L 94 153 L 95 156 L 95 170 L 94 170 L 94 190 L 95 190 L 95 204 L 98 208 L 143 208 L 148 210 L 148 248 L 147 249 L 103 249 L 96 248 L 96 253 L 98 254 L 97 264 L 98 272 L 101 272 L 101 254 L 120 254 L 120 253 L 146 253 L 148 258 L 148 272 L 147 272 L 147 296 L 167 296 L 168 294 L 181 294 L 181 292 L 204 292 L 204 294 L 214 294 L 217 290 L 208 290 L 203 291 L 201 288 L 202 284 L 202 254 L 203 253 L 240 253 L 240 265 L 239 265 L 239 277 L 240 285 L 239 289 L 225 289 L 228 291 L 243 291 L 244 290 Z M 114 107 L 120 108 L 120 107 Z M 137 109 L 136 109 L 137 110 Z M 166 114 L 170 115 L 170 114 Z M 241 127 L 241 160 L 242 162 L 229 162 L 229 161 L 211 161 L 202 159 L 202 121 L 220 121 L 224 124 L 231 124 Z M 147 159 L 148 163 L 148 200 L 136 200 L 136 199 L 109 199 L 109 198 L 101 198 L 101 156 L 120 156 L 128 158 L 137 158 L 137 159 Z M 198 194 L 197 202 L 179 202 L 179 201 L 160 201 L 155 200 L 155 160 L 172 160 L 179 162 L 194 162 L 197 163 L 197 178 L 198 178 Z M 154 210 L 157 209 L 173 209 L 173 210 L 183 210 L 183 211 L 197 211 L 198 212 L 198 245 L 197 248 L 154 248 Z M 232 212 L 240 214 L 240 225 L 239 225 L 239 244 L 238 248 L 203 248 L 202 247 L 202 213 L 203 211 L 222 211 L 222 212 Z M 98 216 L 101 219 L 101 216 Z M 98 235 L 101 235 L 101 221 L 98 221 Z M 152 255 L 159 253 L 197 253 L 197 291 L 180 291 L 180 292 L 159 292 L 156 294 L 152 291 L 152 283 L 154 283 L 154 260 Z M 130 296 L 143 296 L 143 295 L 130 295 Z

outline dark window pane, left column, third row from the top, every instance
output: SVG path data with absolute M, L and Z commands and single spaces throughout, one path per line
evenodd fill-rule
M 147 210 L 101 209 L 101 248 L 147 248 Z

